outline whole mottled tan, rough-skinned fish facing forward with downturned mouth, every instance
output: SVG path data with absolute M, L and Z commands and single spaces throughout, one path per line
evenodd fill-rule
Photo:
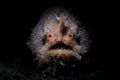
M 89 48 L 88 36 L 79 21 L 58 7 L 43 14 L 27 44 L 39 63 L 81 60 Z

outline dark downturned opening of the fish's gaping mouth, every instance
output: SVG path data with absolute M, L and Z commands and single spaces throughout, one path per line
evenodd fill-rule
M 64 44 L 63 42 L 58 42 L 55 45 L 51 46 L 49 50 L 55 50 L 55 51 L 64 51 L 64 50 L 73 50 L 72 47 L 69 45 Z

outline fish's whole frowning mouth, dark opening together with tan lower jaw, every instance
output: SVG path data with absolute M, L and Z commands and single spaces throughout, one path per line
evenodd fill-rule
M 49 61 L 49 59 L 69 60 L 71 58 L 80 60 L 81 56 L 70 45 L 66 45 L 63 42 L 51 45 L 48 50 L 45 50 L 45 52 L 41 54 L 42 61 L 46 62 Z

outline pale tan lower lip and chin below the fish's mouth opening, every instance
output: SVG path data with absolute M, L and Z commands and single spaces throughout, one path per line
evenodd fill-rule
M 49 62 L 53 60 L 67 61 L 67 60 L 70 60 L 71 58 L 75 60 L 81 60 L 80 54 L 67 49 L 49 50 L 46 52 L 46 54 L 42 54 L 40 59 L 42 59 L 43 62 Z

